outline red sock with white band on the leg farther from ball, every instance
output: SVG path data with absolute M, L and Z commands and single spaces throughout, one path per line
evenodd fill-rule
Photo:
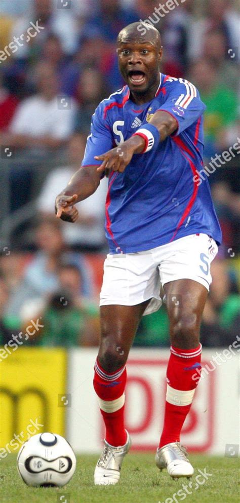
M 190 410 L 199 381 L 201 354 L 202 344 L 192 350 L 180 350 L 171 346 L 171 355 L 167 368 L 164 427 L 159 447 L 171 442 L 180 442 L 183 423 Z

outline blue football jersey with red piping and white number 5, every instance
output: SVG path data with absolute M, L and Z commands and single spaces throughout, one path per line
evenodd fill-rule
M 103 100 L 93 115 L 83 166 L 100 165 L 94 156 L 121 145 L 157 110 L 173 115 L 178 128 L 157 149 L 135 154 L 124 173 L 111 172 L 106 198 L 110 253 L 131 253 L 205 233 L 221 243 L 221 229 L 203 170 L 203 112 L 195 86 L 160 74 L 155 97 L 136 105 L 128 86 Z

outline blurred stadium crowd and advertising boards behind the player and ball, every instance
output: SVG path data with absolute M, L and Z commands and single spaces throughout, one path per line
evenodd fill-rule
M 77 451 L 99 449 L 103 433 L 92 366 L 107 251 L 106 182 L 79 204 L 74 226 L 55 219 L 54 200 L 81 165 L 97 104 L 122 86 L 115 52 L 118 31 L 152 16 L 158 5 L 155 0 L 1 0 L 1 449 L 14 433 L 26 438 L 29 420 L 37 417 L 42 430 L 67 435 Z M 237 3 L 186 0 L 156 26 L 163 36 L 163 72 L 191 80 L 207 104 L 209 166 L 211 157 L 224 159 L 222 153 L 240 137 Z M 239 334 L 240 169 L 234 152 L 209 174 L 223 244 L 212 266 L 201 329 L 205 363 L 217 351 L 222 355 Z M 13 335 L 19 341 L 15 345 Z M 129 430 L 135 448 L 153 449 L 161 428 L 168 358 L 165 306 L 143 319 L 134 346 Z M 197 396 L 184 440 L 193 449 L 224 455 L 226 444 L 239 443 L 237 356 L 226 354 L 216 367 L 201 384 L 202 398 Z

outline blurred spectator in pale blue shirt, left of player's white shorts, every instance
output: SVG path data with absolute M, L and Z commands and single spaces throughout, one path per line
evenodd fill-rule
M 26 266 L 22 282 L 10 297 L 9 315 L 25 317 L 27 312 L 30 318 L 34 316 L 45 297 L 58 289 L 58 267 L 63 261 L 78 267 L 82 275 L 81 294 L 91 296 L 92 281 L 86 261 L 81 254 L 68 251 L 55 216 L 45 218 L 37 225 L 35 243 L 37 253 Z

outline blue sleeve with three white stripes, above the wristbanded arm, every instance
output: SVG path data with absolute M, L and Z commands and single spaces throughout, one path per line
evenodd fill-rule
M 178 136 L 191 126 L 206 109 L 195 86 L 184 79 L 169 79 L 165 103 L 158 108 L 169 112 L 178 122 L 172 136 Z

